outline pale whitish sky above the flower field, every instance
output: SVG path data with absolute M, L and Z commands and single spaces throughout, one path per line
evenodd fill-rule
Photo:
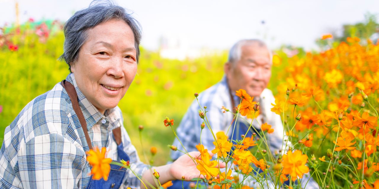
M 0 0 L 0 26 L 15 20 L 15 0 Z M 18 0 L 20 21 L 66 21 L 91 0 Z M 352 0 L 115 0 L 132 10 L 143 28 L 142 45 L 158 48 L 161 37 L 189 49 L 229 49 L 245 38 L 263 39 L 275 48 L 281 44 L 316 48 L 315 39 L 341 31 L 344 23 L 379 14 L 379 1 Z M 262 24 L 262 20 L 265 24 Z

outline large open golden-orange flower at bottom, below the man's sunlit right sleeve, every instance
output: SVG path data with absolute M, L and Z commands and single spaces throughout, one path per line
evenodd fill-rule
M 295 152 L 288 151 L 283 155 L 283 174 L 290 174 L 292 181 L 295 181 L 298 177 L 302 178 L 303 175 L 309 172 L 309 168 L 305 166 L 308 156 L 303 155 L 300 150 Z

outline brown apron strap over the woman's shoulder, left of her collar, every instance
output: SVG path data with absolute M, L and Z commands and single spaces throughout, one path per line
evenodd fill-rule
M 89 149 L 92 149 L 91 138 L 89 138 L 88 130 L 87 130 L 87 122 L 83 116 L 83 112 L 81 112 L 79 102 L 78 102 L 78 95 L 76 93 L 75 87 L 70 82 L 66 82 L 66 80 L 63 80 L 61 82 L 61 85 L 63 86 L 64 89 L 66 89 L 67 94 L 70 97 L 70 100 L 72 103 L 72 108 L 74 108 L 74 111 L 75 111 L 76 115 L 78 116 L 78 119 L 79 119 L 79 122 L 81 125 L 81 129 L 83 129 L 84 136 L 86 137 L 88 147 L 89 147 Z M 121 139 L 121 136 L 120 136 L 120 139 Z

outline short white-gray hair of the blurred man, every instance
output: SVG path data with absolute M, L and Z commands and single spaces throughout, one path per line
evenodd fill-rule
M 273 59 L 272 52 L 267 47 L 266 43 L 263 42 L 262 40 L 259 40 L 259 39 L 243 39 L 243 40 L 236 42 L 229 51 L 228 62 L 233 64 L 233 63 L 237 62 L 238 60 L 240 60 L 241 54 L 242 54 L 242 52 L 241 52 L 242 46 L 247 45 L 247 44 L 254 44 L 254 43 L 257 43 L 259 47 L 267 48 L 267 50 L 269 52 L 269 56 L 270 56 L 270 62 L 269 63 L 272 64 L 272 59 Z

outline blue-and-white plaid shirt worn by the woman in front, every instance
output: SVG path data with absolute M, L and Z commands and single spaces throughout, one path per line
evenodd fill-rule
M 76 89 L 87 122 L 92 146 L 106 147 L 107 158 L 119 160 L 112 130 L 121 127 L 122 144 L 131 168 L 142 175 L 143 164 L 130 142 L 119 107 L 104 115 L 78 88 L 74 74 L 66 80 Z M 91 167 L 89 147 L 66 90 L 60 83 L 29 102 L 6 127 L 0 152 L 0 188 L 86 188 Z M 128 170 L 122 187 L 139 188 L 140 181 Z

